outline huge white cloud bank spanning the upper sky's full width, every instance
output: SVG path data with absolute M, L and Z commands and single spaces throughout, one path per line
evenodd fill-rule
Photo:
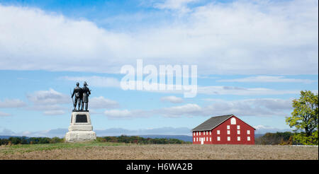
M 162 4 L 191 9 L 185 16 L 121 32 L 0 5 L 0 69 L 118 73 L 144 59 L 197 64 L 198 74 L 318 74 L 318 1 L 186 2 Z

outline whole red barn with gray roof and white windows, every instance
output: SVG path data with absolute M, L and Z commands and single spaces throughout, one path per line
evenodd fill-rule
M 254 130 L 235 115 L 211 117 L 192 129 L 193 144 L 254 144 Z

